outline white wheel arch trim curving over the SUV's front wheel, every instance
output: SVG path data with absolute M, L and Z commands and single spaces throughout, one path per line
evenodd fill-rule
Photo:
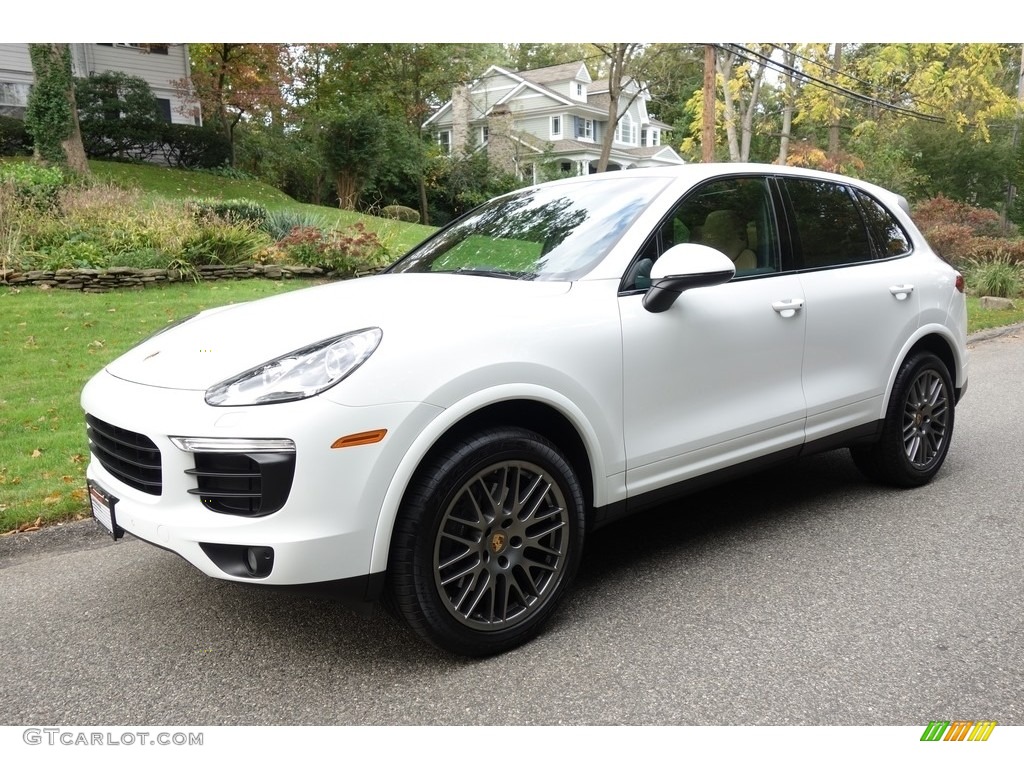
M 600 442 L 571 401 L 557 393 L 545 394 L 550 396 L 532 393 L 478 401 L 483 398 L 480 393 L 472 403 L 458 403 L 447 409 L 424 430 L 396 469 L 385 496 L 374 535 L 371 573 L 387 568 L 395 519 L 410 484 L 424 463 L 453 440 L 488 427 L 523 427 L 554 443 L 577 472 L 590 522 L 595 505 L 604 503 L 602 488 L 596 482 L 600 476 L 597 468 L 605 466 Z

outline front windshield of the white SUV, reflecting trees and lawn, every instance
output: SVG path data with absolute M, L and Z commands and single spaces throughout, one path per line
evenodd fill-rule
M 667 183 L 602 174 L 513 193 L 470 211 L 391 271 L 575 280 L 605 257 Z

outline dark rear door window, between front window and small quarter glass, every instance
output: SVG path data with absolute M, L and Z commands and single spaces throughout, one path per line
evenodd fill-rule
M 853 190 L 833 181 L 787 178 L 790 215 L 804 268 L 841 266 L 874 257 Z

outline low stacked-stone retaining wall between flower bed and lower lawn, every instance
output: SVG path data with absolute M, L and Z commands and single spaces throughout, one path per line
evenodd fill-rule
M 110 269 L 57 269 L 55 271 L 34 269 L 25 272 L 0 269 L 0 285 L 10 286 L 11 288 L 34 286 L 43 289 L 59 288 L 66 291 L 103 293 L 122 288 L 141 289 L 161 283 L 187 283 L 194 281 L 196 278 L 203 281 L 247 280 L 250 278 L 264 278 L 266 280 L 326 278 L 329 280 L 341 280 L 344 278 L 357 278 L 368 273 L 340 274 L 338 272 L 327 272 L 315 266 L 281 266 L 279 264 L 201 266 L 197 268 L 195 273 L 182 272 L 177 269 L 133 269 L 126 266 L 115 266 Z

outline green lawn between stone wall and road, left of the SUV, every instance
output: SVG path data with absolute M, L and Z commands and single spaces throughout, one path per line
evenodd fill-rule
M 0 288 L 0 534 L 88 514 L 79 393 L 178 317 L 310 283 L 252 280 L 86 294 Z

